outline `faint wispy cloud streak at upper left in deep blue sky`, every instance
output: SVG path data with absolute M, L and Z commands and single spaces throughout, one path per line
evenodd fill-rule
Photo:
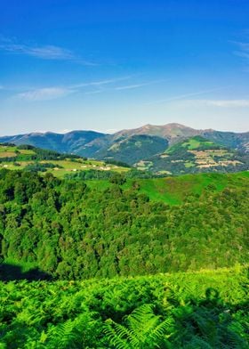
M 72 51 L 56 45 L 24 45 L 12 39 L 0 37 L 0 50 L 12 54 L 24 54 L 42 60 L 75 61 L 84 65 L 96 65 L 92 61 L 85 61 Z

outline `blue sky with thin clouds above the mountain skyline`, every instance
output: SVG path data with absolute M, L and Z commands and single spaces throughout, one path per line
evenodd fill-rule
M 248 0 L 0 2 L 0 134 L 249 126 Z

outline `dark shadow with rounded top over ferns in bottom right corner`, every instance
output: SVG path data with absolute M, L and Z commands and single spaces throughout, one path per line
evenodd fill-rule
M 207 288 L 204 299 L 189 299 L 188 305 L 178 307 L 174 313 L 180 325 L 176 337 L 181 338 L 182 347 L 246 349 L 247 311 L 248 302 L 229 304 L 217 289 Z

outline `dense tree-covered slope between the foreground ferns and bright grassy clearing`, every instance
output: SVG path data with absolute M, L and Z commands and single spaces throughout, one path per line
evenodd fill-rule
M 150 201 L 136 182 L 100 190 L 51 174 L 2 170 L 1 257 L 56 279 L 244 264 L 249 186 L 236 176 L 221 191 L 212 185 L 186 191 L 171 206 Z

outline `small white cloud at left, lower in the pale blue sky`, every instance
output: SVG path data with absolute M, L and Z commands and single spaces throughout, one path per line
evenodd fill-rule
M 65 97 L 73 90 L 61 87 L 38 88 L 36 90 L 18 93 L 15 97 L 24 101 L 49 101 L 57 98 Z

